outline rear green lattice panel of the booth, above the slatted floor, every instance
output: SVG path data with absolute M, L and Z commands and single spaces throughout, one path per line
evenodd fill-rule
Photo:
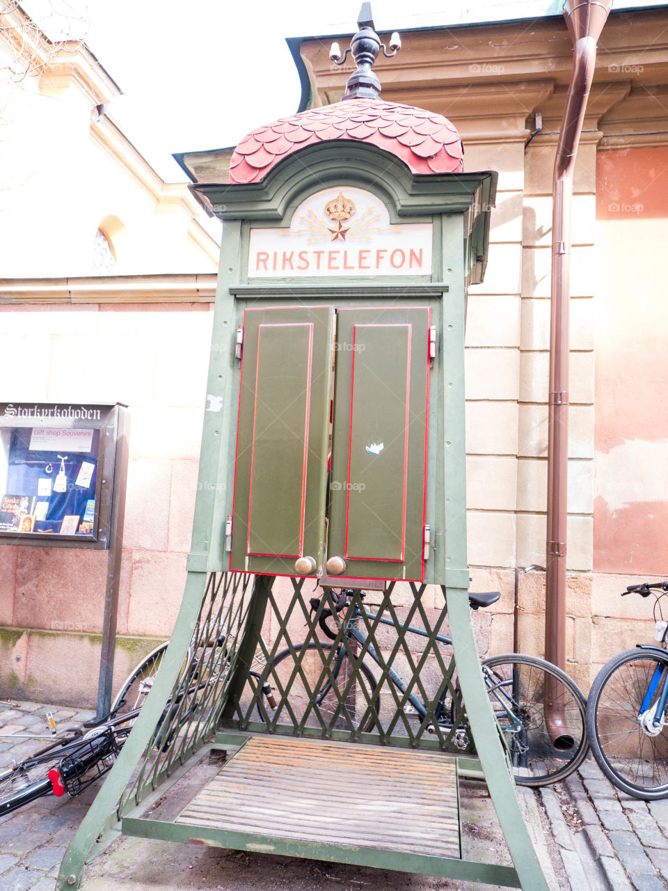
M 331 594 L 313 612 L 304 580 L 293 580 L 292 587 L 289 598 L 268 593 L 264 626 L 276 633 L 271 645 L 258 642 L 265 666 L 228 705 L 225 725 L 411 748 L 470 748 L 457 732 L 462 713 L 452 650 L 437 640 L 447 638 L 446 609 L 424 606 L 426 585 L 410 584 L 402 608 L 393 602 L 394 583 L 375 605 L 353 593 L 329 620 L 336 628 L 331 642 L 319 626 L 322 610 L 333 609 Z M 263 692 L 267 684 L 274 706 Z

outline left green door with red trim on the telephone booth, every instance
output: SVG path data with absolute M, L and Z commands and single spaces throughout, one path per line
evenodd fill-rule
M 322 570 L 333 325 L 333 307 L 244 313 L 232 570 Z

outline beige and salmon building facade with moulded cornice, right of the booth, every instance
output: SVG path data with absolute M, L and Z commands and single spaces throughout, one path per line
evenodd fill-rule
M 612 12 L 574 176 L 567 670 L 651 641 L 627 584 L 668 576 L 668 9 Z M 313 104 L 346 82 L 331 37 L 305 40 Z M 343 45 L 343 40 L 342 40 Z M 544 651 L 552 170 L 571 73 L 561 16 L 403 33 L 382 97 L 444 114 L 466 170 L 499 171 L 485 282 L 468 293 L 472 590 L 498 588 L 490 651 Z

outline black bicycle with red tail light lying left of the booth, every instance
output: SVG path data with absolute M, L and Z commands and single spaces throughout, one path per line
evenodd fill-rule
M 61 735 L 50 723 L 54 734 L 50 745 L 34 755 L 0 771 L 0 816 L 47 795 L 69 794 L 75 797 L 103 774 L 110 771 L 126 742 L 167 651 L 167 642 L 143 658 L 121 684 L 110 714 L 101 721 L 66 728 Z M 226 649 L 224 636 L 208 642 L 205 648 L 191 646 L 181 673 L 183 681 L 167 704 L 156 726 L 152 747 L 164 751 L 171 746 L 180 728 L 187 723 L 194 708 L 195 693 L 219 683 L 226 673 L 232 653 Z M 254 663 L 261 663 L 256 656 Z M 258 665 L 259 667 L 259 665 Z M 256 671 L 250 674 L 257 680 Z M 271 691 L 263 689 L 269 702 Z M 175 719 L 175 720 L 173 720 Z M 163 730 L 163 728 L 165 728 Z

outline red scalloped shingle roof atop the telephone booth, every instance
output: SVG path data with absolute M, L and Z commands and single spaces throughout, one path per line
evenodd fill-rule
M 378 145 L 413 173 L 461 173 L 460 135 L 443 115 L 384 102 L 347 99 L 257 127 L 244 136 L 230 161 L 231 183 L 257 183 L 286 155 L 332 139 Z

